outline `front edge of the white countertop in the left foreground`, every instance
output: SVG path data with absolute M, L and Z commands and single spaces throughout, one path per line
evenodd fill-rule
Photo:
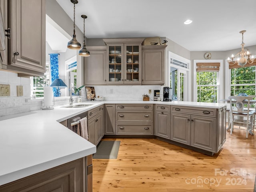
M 50 168 L 54 168 L 56 166 L 71 162 L 73 160 L 77 160 L 79 158 L 82 158 L 84 156 L 88 156 L 90 154 L 96 153 L 96 146 L 93 146 L 91 148 L 88 148 L 83 151 L 79 151 L 64 157 L 56 158 L 54 160 L 50 160 L 48 162 L 43 162 L 41 164 L 36 164 L 34 166 L 30 166 L 28 168 L 24 168 L 21 170 L 17 170 L 15 172 L 11 172 L 9 174 L 1 175 L 0 176 L 0 186 L 7 184 L 9 182 L 13 182 L 15 180 L 31 176 L 32 174 L 36 174 L 42 171 L 45 171 Z

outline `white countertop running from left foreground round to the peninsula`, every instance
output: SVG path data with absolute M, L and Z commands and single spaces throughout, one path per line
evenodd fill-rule
M 0 117 L 0 185 L 96 152 L 96 146 L 58 122 L 104 103 L 164 104 L 220 109 L 224 103 L 88 101 L 86 108 L 54 107 Z M 80 104 L 80 103 L 79 103 Z

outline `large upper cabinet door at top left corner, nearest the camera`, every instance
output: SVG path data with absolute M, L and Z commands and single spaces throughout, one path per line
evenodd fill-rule
M 9 1 L 9 65 L 24 73 L 45 72 L 45 0 Z

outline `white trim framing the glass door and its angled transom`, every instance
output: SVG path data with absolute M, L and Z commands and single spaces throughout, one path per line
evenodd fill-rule
M 187 68 L 184 68 L 184 67 L 180 67 L 178 65 L 174 65 L 174 64 L 170 64 L 170 59 L 175 59 L 177 61 L 181 61 L 183 63 L 187 63 Z M 166 70 L 168 72 L 168 74 L 166 75 L 166 77 L 168 77 L 168 80 L 167 80 L 167 83 L 166 85 L 168 87 L 170 87 L 170 67 L 175 67 L 175 68 L 179 68 L 179 69 L 182 69 L 182 70 L 185 70 L 185 71 L 189 71 L 187 72 L 187 77 L 186 77 L 186 101 L 191 101 L 191 88 L 190 88 L 190 77 L 191 77 L 191 70 L 190 70 L 190 67 L 191 67 L 191 61 L 189 59 L 186 59 L 180 55 L 177 55 L 175 53 L 172 53 L 171 51 L 168 51 L 168 70 Z

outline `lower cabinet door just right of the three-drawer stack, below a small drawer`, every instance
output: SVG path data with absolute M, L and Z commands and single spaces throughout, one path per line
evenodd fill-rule
M 156 135 L 170 139 L 170 112 L 155 111 L 154 121 Z

